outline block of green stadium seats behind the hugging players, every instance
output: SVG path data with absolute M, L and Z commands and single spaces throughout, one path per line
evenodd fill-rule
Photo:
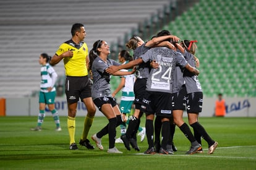
M 198 40 L 205 96 L 256 96 L 256 1 L 200 1 L 165 29 Z

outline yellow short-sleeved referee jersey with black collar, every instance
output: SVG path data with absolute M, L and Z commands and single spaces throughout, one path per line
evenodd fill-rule
M 73 51 L 72 57 L 64 57 L 63 59 L 66 75 L 75 77 L 88 75 L 86 64 L 86 57 L 88 56 L 87 44 L 81 41 L 79 45 L 76 45 L 72 40 L 66 41 L 59 46 L 56 55 L 59 56 L 66 51 Z

